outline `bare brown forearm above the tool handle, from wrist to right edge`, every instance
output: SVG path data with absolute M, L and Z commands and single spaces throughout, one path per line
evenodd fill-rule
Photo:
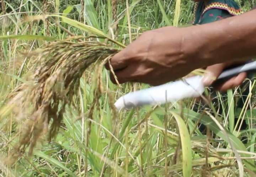
M 256 56 L 256 10 L 187 30 L 184 50 L 202 67 Z

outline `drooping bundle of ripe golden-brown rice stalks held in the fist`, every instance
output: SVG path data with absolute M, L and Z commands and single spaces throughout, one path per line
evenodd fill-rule
M 20 138 L 9 162 L 16 160 L 27 147 L 32 154 L 37 140 L 47 132 L 49 138 L 57 133 L 65 106 L 72 102 L 82 73 L 90 64 L 107 61 L 118 51 L 100 42 L 69 39 L 54 41 L 33 52 L 33 56 L 37 56 L 34 61 L 41 61 L 40 66 L 28 82 L 17 86 L 10 94 L 6 105 L 21 126 L 17 132 Z

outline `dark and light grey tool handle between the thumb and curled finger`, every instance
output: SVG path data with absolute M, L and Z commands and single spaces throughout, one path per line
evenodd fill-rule
M 216 84 L 216 82 L 223 82 L 224 80 L 227 80 L 242 72 L 246 72 L 247 74 L 256 72 L 256 61 L 250 61 L 237 67 L 226 69 L 222 74 L 220 74 L 214 84 Z

